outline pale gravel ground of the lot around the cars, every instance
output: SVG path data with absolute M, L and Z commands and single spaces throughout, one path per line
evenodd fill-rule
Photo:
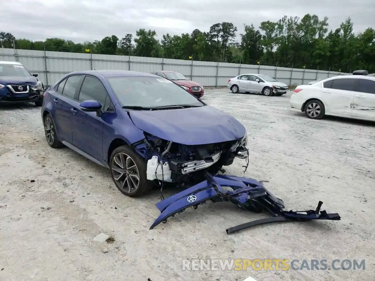
M 104 168 L 48 146 L 40 108 L 2 106 L 0 280 L 375 280 L 375 124 L 309 120 L 290 108 L 290 95 L 216 89 L 204 100 L 248 128 L 246 176 L 268 180 L 288 209 L 315 209 L 322 200 L 342 220 L 270 224 L 233 235 L 225 229 L 267 214 L 207 203 L 148 230 L 159 215 L 158 191 L 124 196 Z M 243 164 L 236 159 L 227 173 L 242 175 Z M 99 233 L 115 241 L 94 241 Z M 181 271 L 181 259 L 189 258 L 366 259 L 366 270 Z

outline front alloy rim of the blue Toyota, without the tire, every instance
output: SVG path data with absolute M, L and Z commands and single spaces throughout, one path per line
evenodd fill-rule
M 139 171 L 132 157 L 119 152 L 113 157 L 113 179 L 117 186 L 126 193 L 134 193 L 139 187 Z

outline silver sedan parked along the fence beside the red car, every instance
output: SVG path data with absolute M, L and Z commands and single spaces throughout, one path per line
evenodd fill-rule
M 264 96 L 282 96 L 288 85 L 263 74 L 241 74 L 229 79 L 226 86 L 232 93 L 262 93 Z

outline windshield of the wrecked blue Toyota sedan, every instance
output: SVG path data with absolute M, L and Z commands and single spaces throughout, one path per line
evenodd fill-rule
M 108 77 L 121 106 L 203 106 L 192 94 L 162 77 Z

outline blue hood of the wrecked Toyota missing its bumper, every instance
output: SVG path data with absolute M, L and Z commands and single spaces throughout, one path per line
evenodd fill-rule
M 201 145 L 242 138 L 246 129 L 212 106 L 158 111 L 129 111 L 136 127 L 166 141 Z

